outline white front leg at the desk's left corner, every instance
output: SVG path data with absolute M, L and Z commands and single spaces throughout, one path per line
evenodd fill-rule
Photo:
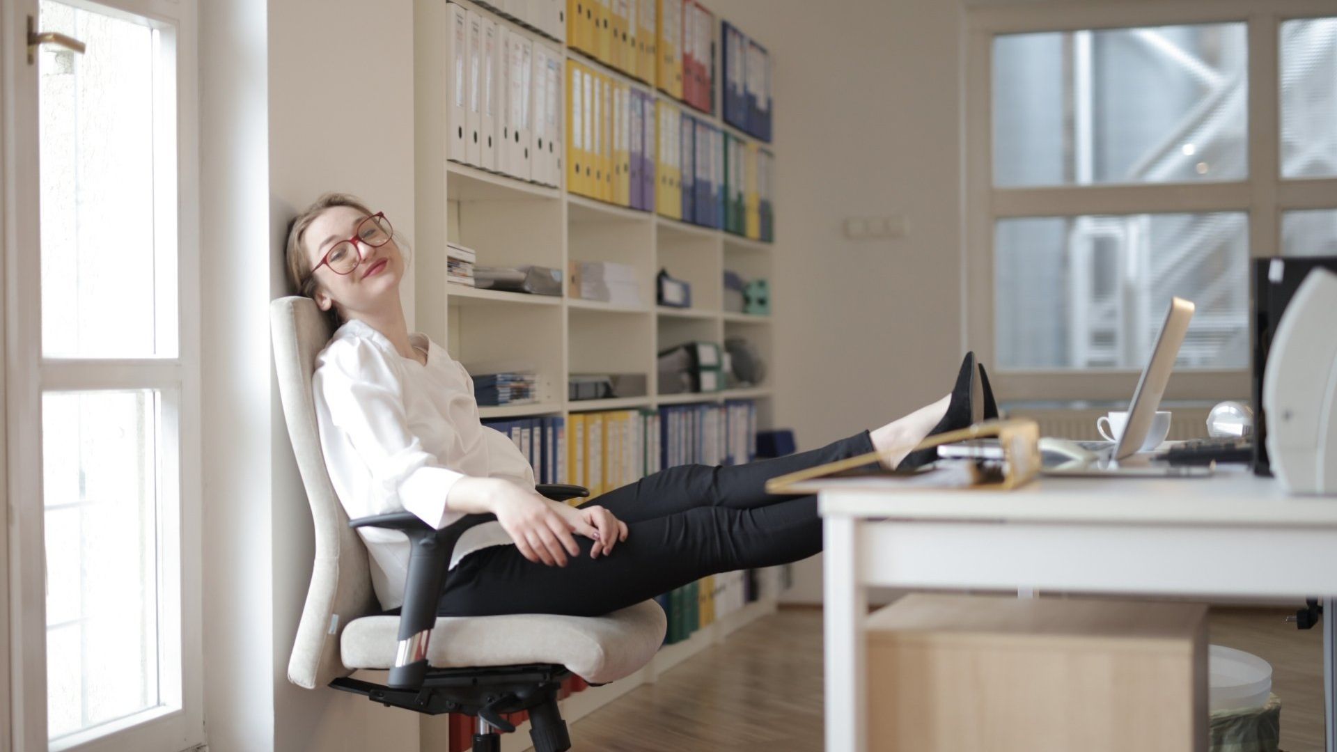
M 832 515 L 822 521 L 828 752 L 868 749 L 864 662 L 868 594 L 860 581 L 858 529 L 858 521 L 850 516 Z

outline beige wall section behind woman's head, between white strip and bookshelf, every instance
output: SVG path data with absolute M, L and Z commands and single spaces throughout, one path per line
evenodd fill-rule
M 324 191 L 353 193 L 412 240 L 413 4 L 283 0 L 269 4 L 271 292 L 289 294 L 283 236 Z M 412 280 L 401 289 L 412 294 Z M 405 300 L 413 310 L 412 297 Z M 412 325 L 412 316 L 409 317 Z M 274 748 L 417 749 L 417 719 L 353 694 L 287 682 L 287 656 L 310 582 L 310 511 L 277 388 L 273 428 Z M 378 731 L 400 739 L 377 739 Z M 396 741 L 398 745 L 396 745 Z M 372 743 L 372 744 L 369 744 Z

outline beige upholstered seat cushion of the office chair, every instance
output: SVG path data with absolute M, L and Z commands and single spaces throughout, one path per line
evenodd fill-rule
M 428 645 L 436 668 L 560 664 L 594 684 L 614 681 L 650 662 L 667 620 L 644 601 L 602 617 L 505 614 L 439 617 Z M 340 648 L 350 669 L 394 665 L 400 617 L 362 617 L 344 629 Z

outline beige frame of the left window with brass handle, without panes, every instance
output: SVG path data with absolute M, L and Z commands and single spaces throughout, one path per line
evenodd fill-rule
M 159 569 L 160 591 L 175 597 L 175 605 L 159 603 L 160 640 L 171 640 L 160 650 L 159 672 L 179 674 L 179 693 L 164 692 L 164 700 L 176 708 L 155 708 L 128 719 L 95 727 L 98 733 L 79 733 L 51 749 L 78 752 L 178 752 L 205 741 L 203 729 L 203 653 L 201 563 L 201 308 L 199 308 L 199 115 L 198 115 L 198 0 L 60 0 L 75 7 L 96 5 L 108 15 L 124 13 L 147 19 L 164 31 L 159 36 L 163 54 L 174 56 L 174 66 L 156 70 L 162 78 L 155 88 L 174 87 L 172 110 L 159 112 L 172 118 L 171 140 L 158 146 L 155 174 L 175 169 L 175 191 L 166 191 L 174 203 L 175 226 L 162 222 L 155 234 L 163 233 L 175 242 L 176 321 L 174 333 L 178 348 L 174 357 L 144 359 L 52 359 L 41 357 L 40 254 L 37 226 L 37 86 L 36 66 L 27 64 L 25 24 L 37 16 L 37 0 L 5 3 L 0 29 L 0 75 L 7 95 L 0 100 L 3 114 L 4 197 L 4 288 L 0 305 L 5 313 L 3 341 L 5 389 L 5 438 L 3 448 L 9 474 L 5 491 L 9 499 L 41 496 L 40 401 L 44 392 L 152 388 L 159 391 L 160 421 L 158 447 L 168 455 L 158 478 L 162 522 Z M 162 155 L 168 155 L 162 159 Z M 167 163 L 170 162 L 170 163 Z M 160 185 L 160 183 L 159 183 Z M 163 197 L 155 197 L 162 202 Z M 167 206 L 171 207 L 172 203 Z M 159 203 L 162 206 L 162 203 Z M 175 460 L 175 462 L 172 462 Z M 175 503 L 172 503 L 175 502 Z M 7 504 L 9 516 L 8 551 L 0 545 L 9 569 L 0 586 L 8 609 L 5 628 L 0 628 L 0 648 L 5 658 L 0 666 L 9 669 L 8 685 L 0 689 L 0 717 L 8 729 L 0 735 L 0 752 L 8 749 L 47 749 L 47 645 L 45 645 L 45 549 L 43 504 Z M 32 542 L 36 542 L 33 545 Z M 0 570 L 3 571 L 3 570 Z M 167 606 L 167 607 L 164 607 Z M 175 607 L 172 607 L 175 606 Z M 0 610 L 0 614 L 5 613 Z M 8 694 L 5 693 L 8 692 Z

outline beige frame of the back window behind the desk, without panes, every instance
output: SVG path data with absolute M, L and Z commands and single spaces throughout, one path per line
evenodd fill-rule
M 993 310 L 995 222 L 1016 217 L 1243 211 L 1249 254 L 1281 253 L 1281 214 L 1337 207 L 1337 178 L 1281 177 L 1280 29 L 1293 19 L 1333 17 L 1330 0 L 1032 4 L 976 0 L 964 24 L 965 197 L 963 244 L 964 339 L 984 363 L 997 363 Z M 992 54 L 1004 33 L 1082 31 L 1242 21 L 1247 36 L 1249 175 L 1242 181 L 1054 187 L 993 186 Z M 999 369 L 1000 400 L 1127 400 L 1140 369 Z M 1167 399 L 1238 399 L 1249 393 L 1249 368 L 1179 369 Z

